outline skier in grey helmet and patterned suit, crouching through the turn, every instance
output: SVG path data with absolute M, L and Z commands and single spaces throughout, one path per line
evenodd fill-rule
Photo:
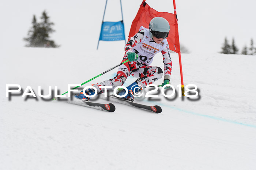
M 163 55 L 164 63 L 164 80 L 162 87 L 165 84 L 170 84 L 170 75 L 172 71 L 172 60 L 170 58 L 169 44 L 166 40 L 170 31 L 170 25 L 163 17 L 154 17 L 149 24 L 149 28 L 140 27 L 139 32 L 136 33 L 128 43 L 125 45 L 125 55 L 123 61 L 127 59 L 129 62 L 122 64 L 117 71 L 117 75 L 110 80 L 94 84 L 98 94 L 102 94 L 104 88 L 101 86 L 111 86 L 114 89 L 117 86 L 122 86 L 128 76 L 138 78 L 135 82 L 127 87 L 128 94 L 123 98 L 133 101 L 133 93 L 146 88 L 148 84 L 154 83 L 163 75 L 160 67 L 150 66 L 153 62 L 153 57 L 158 52 Z M 140 85 L 140 86 L 139 86 Z M 141 88 L 142 87 L 142 88 Z M 108 90 L 111 90 L 108 88 Z M 94 95 L 95 90 L 88 88 L 85 90 L 86 94 Z M 118 95 L 124 95 L 125 89 L 121 90 Z M 83 91 L 76 98 L 88 101 Z

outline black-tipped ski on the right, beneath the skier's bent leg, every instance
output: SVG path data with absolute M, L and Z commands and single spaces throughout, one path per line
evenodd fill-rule
M 109 95 L 109 96 L 111 98 L 117 99 L 116 101 L 113 101 L 113 102 L 118 102 L 118 103 L 121 103 L 121 104 L 129 105 L 129 106 L 134 106 L 134 107 L 137 107 L 137 108 L 143 108 L 144 110 L 153 111 L 155 113 L 161 113 L 162 112 L 162 108 L 160 106 L 157 106 L 157 105 L 155 105 L 155 106 L 148 106 L 148 105 L 144 105 L 144 104 L 130 102 L 130 101 L 125 100 L 125 99 L 117 98 L 113 94 Z

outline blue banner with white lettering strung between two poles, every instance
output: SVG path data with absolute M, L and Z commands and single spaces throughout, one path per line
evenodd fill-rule
M 125 40 L 123 21 L 103 22 L 101 25 L 101 35 L 99 36 L 99 40 L 102 40 L 102 41 Z

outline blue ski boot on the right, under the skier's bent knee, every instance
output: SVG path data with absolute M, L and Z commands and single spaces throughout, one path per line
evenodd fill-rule
M 129 100 L 131 102 L 134 101 L 133 94 L 142 90 L 142 88 L 138 85 L 137 80 L 135 82 L 133 82 L 131 85 L 129 85 L 128 87 L 126 87 L 126 88 L 128 90 L 128 94 L 125 97 L 121 98 L 121 99 Z M 118 95 L 120 95 L 120 96 L 124 95 L 124 94 L 125 94 L 125 89 L 122 89 L 118 93 Z

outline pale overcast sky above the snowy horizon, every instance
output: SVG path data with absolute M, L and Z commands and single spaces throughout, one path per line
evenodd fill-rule
M 122 0 L 125 36 L 142 0 Z M 172 0 L 146 0 L 159 12 L 173 13 Z M 0 4 L 0 48 L 23 47 L 23 37 L 46 10 L 55 23 L 51 38 L 61 48 L 95 50 L 99 39 L 105 0 L 7 0 Z M 240 49 L 249 46 L 253 38 L 256 46 L 256 1 L 252 0 L 176 0 L 180 43 L 191 52 L 221 51 L 225 36 L 232 37 Z M 104 21 L 120 21 L 120 0 L 108 0 Z M 87 41 L 87 43 L 85 43 Z M 88 43 L 90 42 L 90 43 Z M 89 44 L 89 45 L 88 45 Z M 124 42 L 104 42 L 101 46 L 124 47 Z M 114 48 L 110 48 L 112 50 Z

